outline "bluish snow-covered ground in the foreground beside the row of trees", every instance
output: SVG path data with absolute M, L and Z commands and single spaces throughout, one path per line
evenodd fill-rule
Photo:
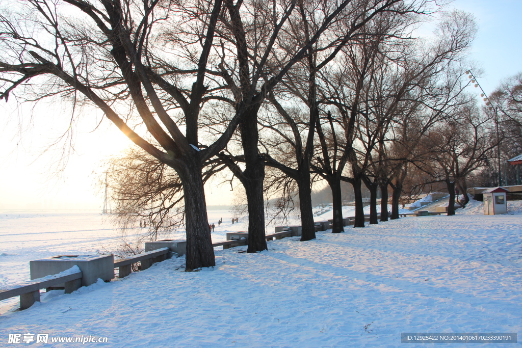
M 481 215 L 481 204 L 454 217 L 350 226 L 309 242 L 284 238 L 258 254 L 216 250 L 216 267 L 200 272 L 183 272 L 178 258 L 73 294 L 52 291 L 0 316 L 0 346 L 10 333 L 107 337 L 91 345 L 118 347 L 393 347 L 401 332 L 522 332 L 522 202 L 508 202 L 514 214 L 494 216 Z M 68 234 L 69 225 L 56 232 L 43 217 L 27 219 L 0 220 L 2 284 L 14 279 L 4 267 L 14 264 L 10 257 L 85 254 L 89 238 L 118 236 L 102 220 Z M 25 244 L 16 247 L 17 239 Z

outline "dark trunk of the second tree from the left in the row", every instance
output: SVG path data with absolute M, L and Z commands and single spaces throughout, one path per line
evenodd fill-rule
M 248 248 L 247 253 L 256 253 L 267 249 L 265 238 L 265 205 L 263 181 L 265 179 L 265 161 L 257 150 L 259 132 L 257 130 L 257 110 L 252 106 L 240 123 L 241 142 L 245 154 L 245 170 L 241 182 L 245 187 L 248 204 Z

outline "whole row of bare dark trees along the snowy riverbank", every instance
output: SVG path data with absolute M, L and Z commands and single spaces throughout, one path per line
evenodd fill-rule
M 267 166 L 280 173 L 276 181 L 295 183 L 306 241 L 315 238 L 317 178 L 331 187 L 334 232 L 341 232 L 341 181 L 353 185 L 355 226 L 363 227 L 362 183 L 371 192 L 370 223 L 377 223 L 378 188 L 381 220 L 387 220 L 388 187 L 391 218 L 398 218 L 412 168 L 449 189 L 487 157 L 489 118 L 482 120 L 462 79 L 473 20 L 454 11 L 429 40 L 414 37 L 437 6 L 431 0 L 11 2 L 0 14 L 0 98 L 60 98 L 80 110 L 73 118 L 89 117 L 89 107 L 103 111 L 140 149 L 114 163 L 122 215 L 145 214 L 158 231 L 183 214 L 186 269 L 210 267 L 204 183 L 223 169 L 244 186 L 248 252 L 256 252 L 267 248 Z M 473 141 L 472 148 L 462 145 Z M 473 158 L 464 169 L 462 156 Z

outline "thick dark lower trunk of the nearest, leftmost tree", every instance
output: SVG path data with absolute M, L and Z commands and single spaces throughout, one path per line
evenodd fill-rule
M 201 170 L 194 164 L 194 167 L 187 167 L 178 173 L 182 180 L 185 201 L 186 270 L 216 266 Z

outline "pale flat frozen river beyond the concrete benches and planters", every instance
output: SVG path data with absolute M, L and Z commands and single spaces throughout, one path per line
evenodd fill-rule
M 244 221 L 232 225 L 228 210 L 209 210 L 209 223 L 216 225 L 212 242 L 226 240 L 226 233 L 246 231 Z M 218 227 L 218 220 L 223 223 Z M 128 229 L 126 241 L 135 241 L 147 229 Z M 95 211 L 3 212 L 0 214 L 0 290 L 29 279 L 29 261 L 61 254 L 89 254 L 113 251 L 122 243 L 123 231 L 110 215 Z M 165 238 L 185 239 L 185 231 L 173 231 Z M 222 248 L 222 247 L 218 247 Z M 6 304 L 0 302 L 0 314 Z

